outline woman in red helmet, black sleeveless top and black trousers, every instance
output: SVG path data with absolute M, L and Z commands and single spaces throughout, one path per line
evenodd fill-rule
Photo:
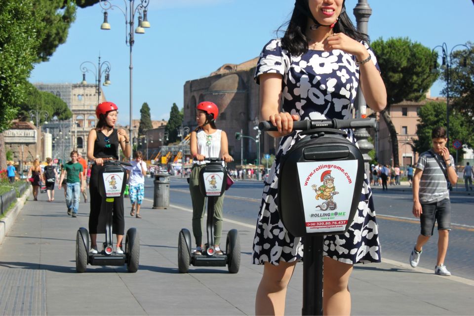
M 112 102 L 102 102 L 95 109 L 97 125 L 92 128 L 87 137 L 87 158 L 94 161 L 90 172 L 90 215 L 89 234 L 90 252 L 98 253 L 97 250 L 97 225 L 99 222 L 100 204 L 102 198 L 99 195 L 99 170 L 104 164 L 104 158 L 118 159 L 118 147 L 120 146 L 125 157 L 130 157 L 130 139 L 123 128 L 114 128 L 117 123 L 118 107 Z M 122 238 L 125 230 L 123 218 L 123 197 L 114 199 L 113 234 L 117 234 L 116 252 L 123 254 L 121 248 Z

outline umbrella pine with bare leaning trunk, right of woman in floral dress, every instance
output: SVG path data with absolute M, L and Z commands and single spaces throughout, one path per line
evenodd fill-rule
M 397 133 L 390 118 L 390 106 L 403 100 L 421 101 L 426 98 L 426 92 L 437 78 L 431 72 L 436 56 L 430 48 L 408 38 L 387 41 L 380 38 L 372 42 L 371 47 L 387 88 L 387 108 L 381 116 L 390 132 L 394 165 L 399 166 Z

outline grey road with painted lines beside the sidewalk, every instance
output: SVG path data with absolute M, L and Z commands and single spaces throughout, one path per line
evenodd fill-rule
M 153 182 L 147 179 L 150 190 L 147 197 L 153 198 Z M 225 217 L 254 227 L 263 184 L 256 181 L 237 181 L 226 192 Z M 404 190 L 404 191 L 402 191 Z M 171 177 L 170 202 L 192 208 L 186 179 Z M 463 192 L 451 195 L 453 230 L 445 265 L 451 273 L 474 279 L 474 196 Z M 408 262 L 411 249 L 420 232 L 419 221 L 413 217 L 411 189 L 390 187 L 389 191 L 374 188 L 374 203 L 378 216 L 382 257 L 402 263 Z M 437 232 L 424 247 L 420 267 L 435 269 L 437 255 Z

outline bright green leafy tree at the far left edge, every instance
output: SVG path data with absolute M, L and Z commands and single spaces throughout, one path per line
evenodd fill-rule
M 16 118 L 25 82 L 37 58 L 44 27 L 32 0 L 0 1 L 0 169 L 6 168 L 3 132 Z

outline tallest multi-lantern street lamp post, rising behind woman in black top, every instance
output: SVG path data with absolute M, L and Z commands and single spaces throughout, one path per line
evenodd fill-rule
M 107 20 L 108 13 L 107 11 L 109 9 L 118 8 L 122 13 L 123 16 L 125 17 L 125 31 L 126 31 L 126 36 L 125 36 L 125 43 L 127 46 L 130 47 L 130 127 L 129 127 L 129 134 L 130 134 L 130 147 L 133 148 L 133 135 L 132 135 L 132 130 L 133 130 L 133 101 L 132 101 L 132 87 L 133 87 L 133 79 L 132 79 L 132 71 L 133 71 L 133 64 L 132 64 L 132 47 L 133 43 L 135 42 L 134 37 L 133 37 L 133 21 L 135 19 L 135 14 L 138 12 L 138 27 L 135 30 L 135 33 L 137 34 L 144 34 L 145 33 L 145 28 L 150 27 L 150 22 L 148 22 L 147 19 L 147 7 L 148 4 L 150 3 L 150 0 L 140 0 L 140 3 L 135 6 L 135 0 L 128 0 L 129 5 L 127 5 L 127 1 L 123 0 L 125 4 L 125 11 L 119 7 L 118 5 L 113 5 L 109 0 L 100 0 L 99 4 L 100 6 L 104 9 L 104 22 L 100 26 L 101 30 L 110 30 L 110 24 Z M 128 12 L 130 11 L 130 12 Z M 129 16 L 127 16 L 129 14 Z M 127 34 L 128 32 L 128 34 Z M 128 36 L 128 37 L 127 37 Z M 131 157 L 130 157 L 131 158 Z

